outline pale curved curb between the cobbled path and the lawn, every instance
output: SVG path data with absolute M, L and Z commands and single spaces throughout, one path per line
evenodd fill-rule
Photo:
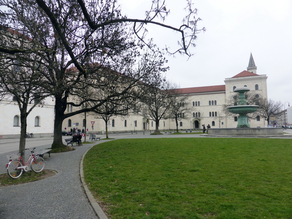
M 94 146 L 94 145 L 93 145 Z M 93 147 L 92 146 L 92 147 Z M 108 219 L 107 216 L 105 215 L 105 213 L 102 211 L 101 207 L 99 206 L 99 204 L 95 201 L 95 198 L 93 197 L 93 195 L 91 194 L 91 192 L 89 191 L 85 181 L 84 181 L 84 173 L 83 173 L 83 159 L 85 157 L 85 154 L 92 148 L 90 147 L 82 156 L 81 158 L 81 162 L 80 162 L 80 178 L 81 178 L 81 183 L 82 186 L 84 187 L 85 193 L 88 197 L 88 200 L 93 208 L 93 211 L 96 213 L 96 215 L 98 216 L 99 219 Z

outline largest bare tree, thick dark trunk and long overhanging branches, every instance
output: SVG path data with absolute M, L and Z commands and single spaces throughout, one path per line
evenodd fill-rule
M 194 18 L 197 11 L 191 8 L 190 1 L 187 1 L 188 13 L 184 23 L 178 28 L 155 21 L 159 18 L 164 20 L 169 13 L 165 10 L 164 1 L 153 1 L 151 9 L 146 12 L 146 18 L 142 20 L 121 15 L 121 10 L 112 0 L 0 0 L 0 4 L 8 7 L 7 12 L 0 12 L 1 25 L 11 25 L 17 34 L 31 38 L 36 45 L 32 48 L 16 47 L 2 41 L 1 54 L 33 53 L 44 60 L 40 64 L 47 69 L 48 74 L 44 76 L 47 84 L 42 90 L 55 98 L 53 149 L 63 147 L 61 129 L 65 118 L 97 109 L 112 98 L 126 99 L 126 93 L 138 81 L 144 83 L 152 77 L 151 74 L 156 74 L 153 69 L 147 72 L 131 70 L 137 63 L 136 59 L 140 57 L 143 46 L 146 45 L 156 53 L 152 40 L 147 41 L 146 24 L 151 23 L 181 33 L 180 47 L 170 53 L 192 55 L 189 46 L 194 45 L 196 34 L 200 31 L 196 26 L 200 19 Z M 152 57 L 148 57 L 150 58 Z M 83 91 L 87 87 L 102 90 L 106 86 L 114 87 L 117 84 L 120 92 L 113 90 L 107 98 L 93 100 L 91 96 L 87 96 L 83 101 L 77 102 L 77 97 L 84 97 Z M 70 96 L 76 98 L 70 101 Z M 91 109 L 64 113 L 67 105 L 78 108 L 86 101 L 96 104 Z

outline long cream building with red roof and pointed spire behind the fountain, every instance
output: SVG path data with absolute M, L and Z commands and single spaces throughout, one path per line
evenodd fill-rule
M 247 86 L 253 91 L 254 95 L 267 99 L 267 76 L 265 74 L 256 74 L 257 67 L 254 63 L 252 54 L 248 62 L 247 71 L 240 72 L 231 78 L 225 78 L 223 85 L 182 88 L 182 94 L 189 96 L 191 107 L 193 108 L 191 115 L 185 115 L 185 119 L 179 121 L 179 129 L 200 128 L 203 124 L 210 124 L 211 128 L 235 128 L 237 126 L 237 117 L 226 117 L 222 113 L 222 106 L 229 98 L 235 95 L 233 90 L 237 87 Z M 67 108 L 72 112 L 73 107 Z M 140 112 L 142 114 L 142 112 Z M 63 121 L 62 129 L 73 128 L 74 124 L 79 123 L 80 129 L 85 126 L 85 118 L 79 114 L 69 117 Z M 88 132 L 92 131 L 91 121 L 94 122 L 93 132 L 104 133 L 105 122 L 101 119 L 86 118 Z M 220 122 L 219 122 L 220 121 Z M 73 124 L 74 123 L 74 124 Z M 122 133 L 131 131 L 150 131 L 155 129 L 155 122 L 145 115 L 137 113 L 129 114 L 124 117 L 115 117 L 110 120 L 108 128 L 109 133 Z M 258 117 L 250 121 L 251 127 L 267 127 L 264 118 Z M 75 126 L 76 128 L 76 126 Z M 171 119 L 161 120 L 159 129 L 176 129 L 175 121 Z

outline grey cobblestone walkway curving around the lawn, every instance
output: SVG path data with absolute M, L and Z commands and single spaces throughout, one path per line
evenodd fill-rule
M 292 130 L 288 133 L 292 133 Z M 194 138 L 202 135 L 110 135 L 110 138 Z M 290 137 L 291 138 L 291 137 Z M 5 140 L 11 142 L 15 140 Z M 96 141 L 96 144 L 104 141 Z M 51 157 L 46 154 L 46 169 L 58 172 L 53 177 L 22 185 L 0 187 L 0 218 L 1 219 L 92 219 L 106 218 L 90 192 L 86 195 L 82 186 L 82 170 L 80 163 L 83 155 L 95 144 L 85 144 L 75 147 L 75 151 L 54 153 Z M 48 148 L 51 145 L 39 146 L 37 150 Z M 0 173 L 5 173 L 4 162 L 6 154 L 0 154 Z M 82 168 L 82 165 L 81 165 Z M 87 191 L 88 192 L 88 191 Z M 93 206 L 93 207 L 92 207 Z M 93 209 L 94 208 L 94 209 Z M 98 212 L 96 215 L 95 212 Z

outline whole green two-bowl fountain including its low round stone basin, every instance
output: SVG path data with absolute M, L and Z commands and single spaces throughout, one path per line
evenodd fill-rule
M 273 137 L 282 136 L 283 128 L 251 128 L 248 124 L 248 113 L 256 112 L 257 105 L 246 105 L 246 99 L 244 93 L 249 91 L 247 87 L 235 88 L 234 92 L 239 93 L 239 100 L 237 106 L 227 107 L 229 112 L 239 114 L 237 118 L 237 128 L 209 128 L 208 135 L 212 136 L 253 136 L 253 137 Z M 204 136 L 208 136 L 204 135 Z

